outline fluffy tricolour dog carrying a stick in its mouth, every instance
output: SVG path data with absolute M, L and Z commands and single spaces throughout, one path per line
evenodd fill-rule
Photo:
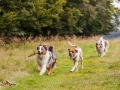
M 39 45 L 37 47 L 37 63 L 38 70 L 40 71 L 39 75 L 43 75 L 48 70 L 48 75 L 52 74 L 52 69 L 56 64 L 56 56 L 53 52 L 54 46 Z

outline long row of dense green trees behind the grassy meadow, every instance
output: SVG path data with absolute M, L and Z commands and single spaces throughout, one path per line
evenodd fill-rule
M 100 35 L 115 30 L 112 0 L 0 0 L 1 36 Z M 114 18 L 113 18 L 114 16 Z

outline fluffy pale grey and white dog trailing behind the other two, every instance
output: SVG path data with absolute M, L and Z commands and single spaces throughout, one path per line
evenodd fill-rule
M 109 41 L 100 37 L 100 39 L 96 42 L 96 50 L 98 52 L 98 56 L 103 57 L 105 56 L 106 52 L 109 48 Z

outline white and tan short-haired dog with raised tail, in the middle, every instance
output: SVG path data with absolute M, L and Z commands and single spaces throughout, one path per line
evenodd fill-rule
M 71 44 L 69 41 L 68 41 L 68 44 L 70 46 L 75 47 L 74 49 L 68 49 L 70 59 L 73 60 L 73 62 L 74 62 L 74 66 L 72 67 L 71 72 L 73 72 L 73 71 L 78 72 L 78 61 L 79 61 L 79 59 L 81 59 L 81 68 L 83 69 L 82 49 L 80 47 L 76 46 L 76 45 Z

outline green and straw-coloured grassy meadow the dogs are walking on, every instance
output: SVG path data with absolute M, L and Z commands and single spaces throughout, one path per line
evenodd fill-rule
M 110 39 L 106 56 L 98 57 L 95 42 L 99 37 L 52 38 L 26 40 L 0 47 L 0 90 L 119 90 L 120 89 L 120 38 Z M 73 61 L 69 59 L 67 41 L 83 50 L 84 69 L 79 62 L 78 72 L 70 72 Z M 57 68 L 52 75 L 47 71 L 39 76 L 36 55 L 38 44 L 54 45 Z M 15 83 L 10 87 L 6 81 Z

